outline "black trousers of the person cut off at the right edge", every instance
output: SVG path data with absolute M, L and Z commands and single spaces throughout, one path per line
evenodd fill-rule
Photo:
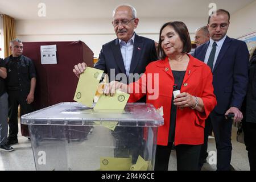
M 248 151 L 250 170 L 256 171 L 256 123 L 243 122 L 245 145 Z

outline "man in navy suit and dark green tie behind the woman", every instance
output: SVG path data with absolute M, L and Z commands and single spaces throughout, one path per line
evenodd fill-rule
M 225 116 L 234 113 L 233 120 L 241 121 L 240 111 L 245 98 L 249 52 L 245 42 L 226 36 L 230 14 L 217 10 L 208 19 L 210 40 L 196 48 L 194 56 L 212 69 L 217 106 L 205 121 L 205 143 L 201 149 L 199 169 L 207 158 L 208 126 L 212 123 L 217 147 L 217 170 L 230 170 L 232 154 L 232 120 Z

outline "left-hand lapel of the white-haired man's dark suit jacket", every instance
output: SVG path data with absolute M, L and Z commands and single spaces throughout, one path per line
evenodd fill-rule
M 115 42 L 114 44 L 112 44 L 111 48 L 114 54 L 114 60 L 117 63 L 119 69 L 121 70 L 122 73 L 126 74 L 125 65 L 123 64 L 123 57 L 121 54 L 120 44 L 118 39 L 115 39 Z

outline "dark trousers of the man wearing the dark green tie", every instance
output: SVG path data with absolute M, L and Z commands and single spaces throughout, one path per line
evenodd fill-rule
M 203 161 L 207 157 L 205 154 L 207 154 L 210 123 L 212 123 L 217 148 L 217 170 L 229 171 L 232 154 L 232 119 L 226 119 L 224 114 L 218 114 L 215 111 L 212 111 L 205 121 L 204 144 L 201 148 L 199 169 L 201 169 Z

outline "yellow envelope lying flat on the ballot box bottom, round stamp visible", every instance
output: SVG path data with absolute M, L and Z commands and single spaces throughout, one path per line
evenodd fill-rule
M 110 158 L 101 157 L 101 171 L 129 171 L 131 158 Z

